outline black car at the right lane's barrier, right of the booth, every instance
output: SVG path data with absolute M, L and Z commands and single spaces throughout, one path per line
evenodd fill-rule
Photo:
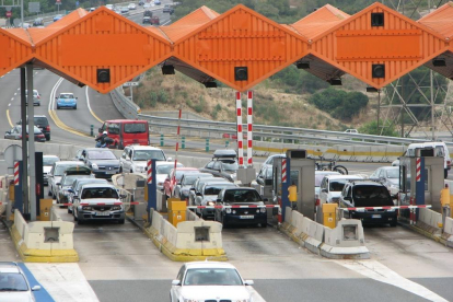
M 339 197 L 340 208 L 393 207 L 387 188 L 373 181 L 350 181 Z M 346 218 L 360 219 L 363 224 L 390 224 L 396 226 L 398 212 L 395 209 L 345 210 Z

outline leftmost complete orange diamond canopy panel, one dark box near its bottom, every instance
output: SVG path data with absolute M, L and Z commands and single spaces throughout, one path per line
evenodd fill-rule
M 171 55 L 171 44 L 162 35 L 147 31 L 105 7 L 40 39 L 35 48 L 36 59 L 54 71 L 58 70 L 57 74 L 65 73 L 66 79 L 102 93 Z

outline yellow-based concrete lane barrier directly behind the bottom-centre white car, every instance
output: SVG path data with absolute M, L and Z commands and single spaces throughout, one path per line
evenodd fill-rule
M 152 225 L 146 232 L 154 245 L 174 262 L 228 260 L 219 222 L 199 219 L 179 222 L 175 228 L 153 211 Z

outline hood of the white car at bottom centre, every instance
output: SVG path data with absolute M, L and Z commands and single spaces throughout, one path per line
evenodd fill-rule
M 194 300 L 244 300 L 251 298 L 251 292 L 244 286 L 188 286 L 181 291 L 185 299 Z

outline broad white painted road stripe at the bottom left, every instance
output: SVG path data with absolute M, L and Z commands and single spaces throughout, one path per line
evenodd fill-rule
M 98 302 L 78 264 L 31 264 L 26 267 L 56 302 Z

